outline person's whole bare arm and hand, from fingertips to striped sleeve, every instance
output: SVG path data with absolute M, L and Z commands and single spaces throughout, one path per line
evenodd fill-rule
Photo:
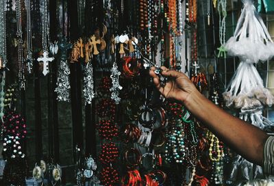
M 161 87 L 154 70 L 152 67 L 149 74 L 165 98 L 183 103 L 193 116 L 239 155 L 258 165 L 263 164 L 264 142 L 268 137 L 264 131 L 214 105 L 197 90 L 184 73 L 162 67 L 162 75 L 169 77 L 169 81 Z

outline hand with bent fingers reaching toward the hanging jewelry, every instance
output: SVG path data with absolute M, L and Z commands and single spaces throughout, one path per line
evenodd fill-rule
M 156 88 L 158 88 L 160 93 L 165 98 L 171 98 L 177 101 L 181 101 L 182 103 L 186 103 L 190 94 L 199 94 L 199 91 L 195 85 L 186 75 L 184 75 L 184 73 L 175 70 L 169 70 L 164 66 L 161 68 L 163 70 L 162 75 L 164 77 L 168 77 L 168 81 L 164 87 L 160 85 L 160 79 L 154 72 L 155 67 L 151 68 L 149 75 L 153 77 L 153 82 L 155 83 Z

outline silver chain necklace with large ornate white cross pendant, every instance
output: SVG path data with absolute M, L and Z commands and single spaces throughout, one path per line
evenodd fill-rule
M 54 60 L 54 57 L 49 57 L 49 21 L 47 17 L 47 0 L 42 0 L 42 49 L 43 54 L 42 57 L 38 57 L 38 62 L 43 62 L 43 75 L 47 75 L 49 73 L 49 62 Z

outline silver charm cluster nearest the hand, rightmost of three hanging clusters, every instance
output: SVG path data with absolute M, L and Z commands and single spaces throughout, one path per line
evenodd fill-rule
M 119 97 L 119 90 L 122 90 L 123 87 L 119 83 L 119 77 L 121 75 L 121 72 L 119 72 L 116 62 L 113 63 L 111 71 L 112 71 L 112 75 L 110 75 L 110 78 L 112 79 L 112 88 L 110 88 L 110 92 L 112 92 L 111 98 L 115 101 L 116 104 L 119 104 L 121 101 L 121 98 Z

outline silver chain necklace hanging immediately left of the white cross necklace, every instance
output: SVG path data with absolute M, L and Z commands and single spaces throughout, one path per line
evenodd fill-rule
M 30 15 L 30 0 L 25 0 L 25 9 L 27 12 L 27 71 L 32 72 L 32 18 Z

